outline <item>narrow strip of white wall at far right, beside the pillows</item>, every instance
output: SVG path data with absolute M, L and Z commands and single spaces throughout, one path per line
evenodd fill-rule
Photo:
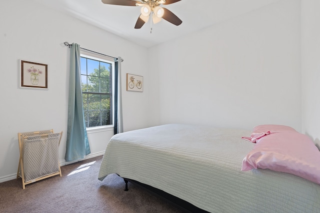
M 319 11 L 319 0 L 301 0 L 302 131 L 320 147 Z

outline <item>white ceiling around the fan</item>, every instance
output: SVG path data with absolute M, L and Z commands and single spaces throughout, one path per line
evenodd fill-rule
M 140 15 L 140 6 L 103 4 L 101 0 L 34 0 L 82 21 L 105 29 L 139 45 L 150 47 L 164 41 L 192 33 L 201 28 L 249 12 L 278 0 L 180 0 L 162 5 L 182 23 L 175 26 L 162 19 L 150 21 L 141 29 L 134 29 Z

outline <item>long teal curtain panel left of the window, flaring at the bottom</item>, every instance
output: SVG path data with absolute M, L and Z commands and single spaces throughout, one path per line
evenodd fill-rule
M 69 104 L 65 161 L 83 159 L 90 154 L 86 134 L 81 91 L 80 46 L 70 47 Z

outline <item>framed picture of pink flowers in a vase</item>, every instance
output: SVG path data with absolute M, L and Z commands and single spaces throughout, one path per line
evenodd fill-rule
M 48 88 L 48 65 L 20 60 L 21 88 Z

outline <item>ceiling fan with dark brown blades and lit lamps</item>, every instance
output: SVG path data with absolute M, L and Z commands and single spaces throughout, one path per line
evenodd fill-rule
M 150 23 L 157 23 L 163 18 L 174 25 L 180 25 L 182 21 L 173 12 L 167 8 L 160 7 L 160 4 L 171 4 L 180 0 L 101 0 L 105 4 L 123 5 L 123 6 L 142 6 L 141 14 L 139 15 L 134 28 L 139 29 L 146 23 L 149 18 Z M 151 27 L 152 30 L 152 27 Z M 150 33 L 151 33 L 150 30 Z

